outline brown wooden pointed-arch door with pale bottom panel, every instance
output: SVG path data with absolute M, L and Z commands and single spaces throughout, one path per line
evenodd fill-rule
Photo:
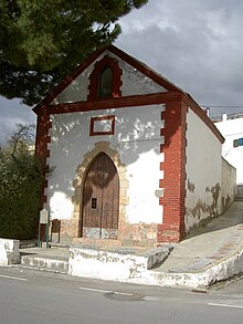
M 117 239 L 119 177 L 112 159 L 102 153 L 87 170 L 83 191 L 82 236 Z

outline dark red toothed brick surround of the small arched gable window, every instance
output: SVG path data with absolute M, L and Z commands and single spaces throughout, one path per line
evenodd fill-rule
M 104 56 L 101 61 L 95 63 L 94 71 L 89 75 L 89 94 L 87 96 L 88 101 L 97 100 L 97 92 L 98 92 L 98 84 L 99 84 L 99 76 L 101 73 L 104 71 L 105 67 L 110 67 L 113 71 L 113 94 L 112 97 L 119 97 L 122 96 L 120 86 L 122 82 L 122 74 L 123 70 L 119 69 L 118 62 L 116 59 L 109 58 L 108 55 Z M 107 100 L 107 98 L 101 98 Z

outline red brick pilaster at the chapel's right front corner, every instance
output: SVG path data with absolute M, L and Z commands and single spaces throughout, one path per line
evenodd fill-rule
M 165 127 L 161 136 L 165 144 L 160 146 L 165 154 L 165 161 L 160 164 L 163 179 L 163 222 L 158 226 L 158 243 L 179 242 L 184 237 L 184 199 L 186 199 L 186 146 L 187 146 L 187 107 L 181 101 L 169 102 L 161 113 Z

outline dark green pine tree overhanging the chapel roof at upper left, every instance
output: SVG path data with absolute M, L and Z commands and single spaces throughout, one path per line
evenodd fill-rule
M 33 105 L 148 0 L 0 0 L 0 95 Z

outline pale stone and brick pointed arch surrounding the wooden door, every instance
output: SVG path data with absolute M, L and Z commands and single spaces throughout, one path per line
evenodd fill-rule
M 128 205 L 128 180 L 127 180 L 127 168 L 122 164 L 119 154 L 115 149 L 110 148 L 109 142 L 98 142 L 95 144 L 93 150 L 85 154 L 83 163 L 78 165 L 76 170 L 76 177 L 73 181 L 74 186 L 74 222 L 76 227 L 76 237 L 81 237 L 81 215 L 83 206 L 83 190 L 84 190 L 84 179 L 91 164 L 94 161 L 101 153 L 105 153 L 114 163 L 118 176 L 119 176 L 119 224 L 118 224 L 118 240 L 122 239 L 120 230 L 123 224 L 126 222 L 126 206 Z

